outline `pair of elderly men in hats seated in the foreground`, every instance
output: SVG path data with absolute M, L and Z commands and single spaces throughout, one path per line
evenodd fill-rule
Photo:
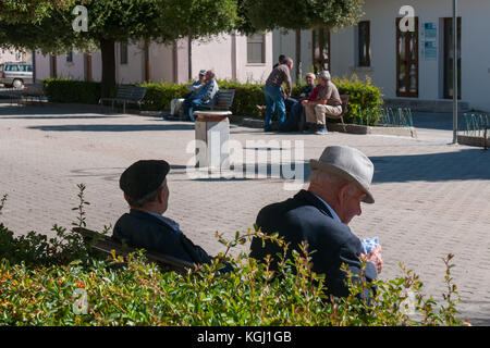
M 371 250 L 350 229 L 348 223 L 360 215 L 360 202 L 373 203 L 369 191 L 373 175 L 372 162 L 359 150 L 346 146 L 327 147 L 318 160 L 310 160 L 311 176 L 308 189 L 293 198 L 269 204 L 260 210 L 256 223 L 265 234 L 279 233 L 292 250 L 301 251 L 302 241 L 308 243 L 313 271 L 327 274 L 327 291 L 346 296 L 343 263 L 358 278 L 370 282 L 382 269 L 381 247 Z M 213 258 L 196 246 L 181 231 L 179 224 L 163 216 L 169 206 L 167 174 L 170 165 L 163 160 L 142 160 L 127 167 L 120 177 L 130 213 L 114 225 L 115 240 L 197 263 L 211 263 Z M 316 250 L 315 252 L 313 252 Z M 270 240 L 254 237 L 250 257 L 262 261 L 271 257 L 275 270 L 281 249 Z M 362 272 L 362 261 L 366 269 Z M 226 265 L 222 272 L 231 271 Z

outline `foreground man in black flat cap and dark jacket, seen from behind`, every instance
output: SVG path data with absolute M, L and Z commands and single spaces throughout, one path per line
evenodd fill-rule
M 193 263 L 210 263 L 211 257 L 194 245 L 173 220 L 162 216 L 169 204 L 166 161 L 137 161 L 121 175 L 119 186 L 131 207 L 114 225 L 112 237 Z

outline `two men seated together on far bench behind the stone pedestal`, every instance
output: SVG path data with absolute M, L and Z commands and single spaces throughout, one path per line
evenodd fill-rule
M 212 105 L 218 92 L 218 83 L 211 70 L 201 70 L 199 77 L 188 86 L 188 94 L 184 98 L 174 98 L 170 102 L 170 114 L 175 117 L 183 112 L 184 117 L 195 121 L 194 111 L 200 105 Z

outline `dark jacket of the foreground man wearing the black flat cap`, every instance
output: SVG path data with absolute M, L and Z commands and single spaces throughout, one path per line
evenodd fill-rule
M 114 225 L 112 238 L 131 247 L 168 254 L 194 263 L 211 263 L 211 257 L 182 232 L 144 211 L 132 209 Z

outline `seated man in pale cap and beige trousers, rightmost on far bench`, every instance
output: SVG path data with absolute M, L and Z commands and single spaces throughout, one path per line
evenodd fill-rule
M 330 73 L 318 74 L 320 85 L 316 100 L 304 100 L 306 124 L 315 134 L 327 134 L 326 116 L 338 117 L 342 114 L 342 100 L 336 86 L 330 80 Z

